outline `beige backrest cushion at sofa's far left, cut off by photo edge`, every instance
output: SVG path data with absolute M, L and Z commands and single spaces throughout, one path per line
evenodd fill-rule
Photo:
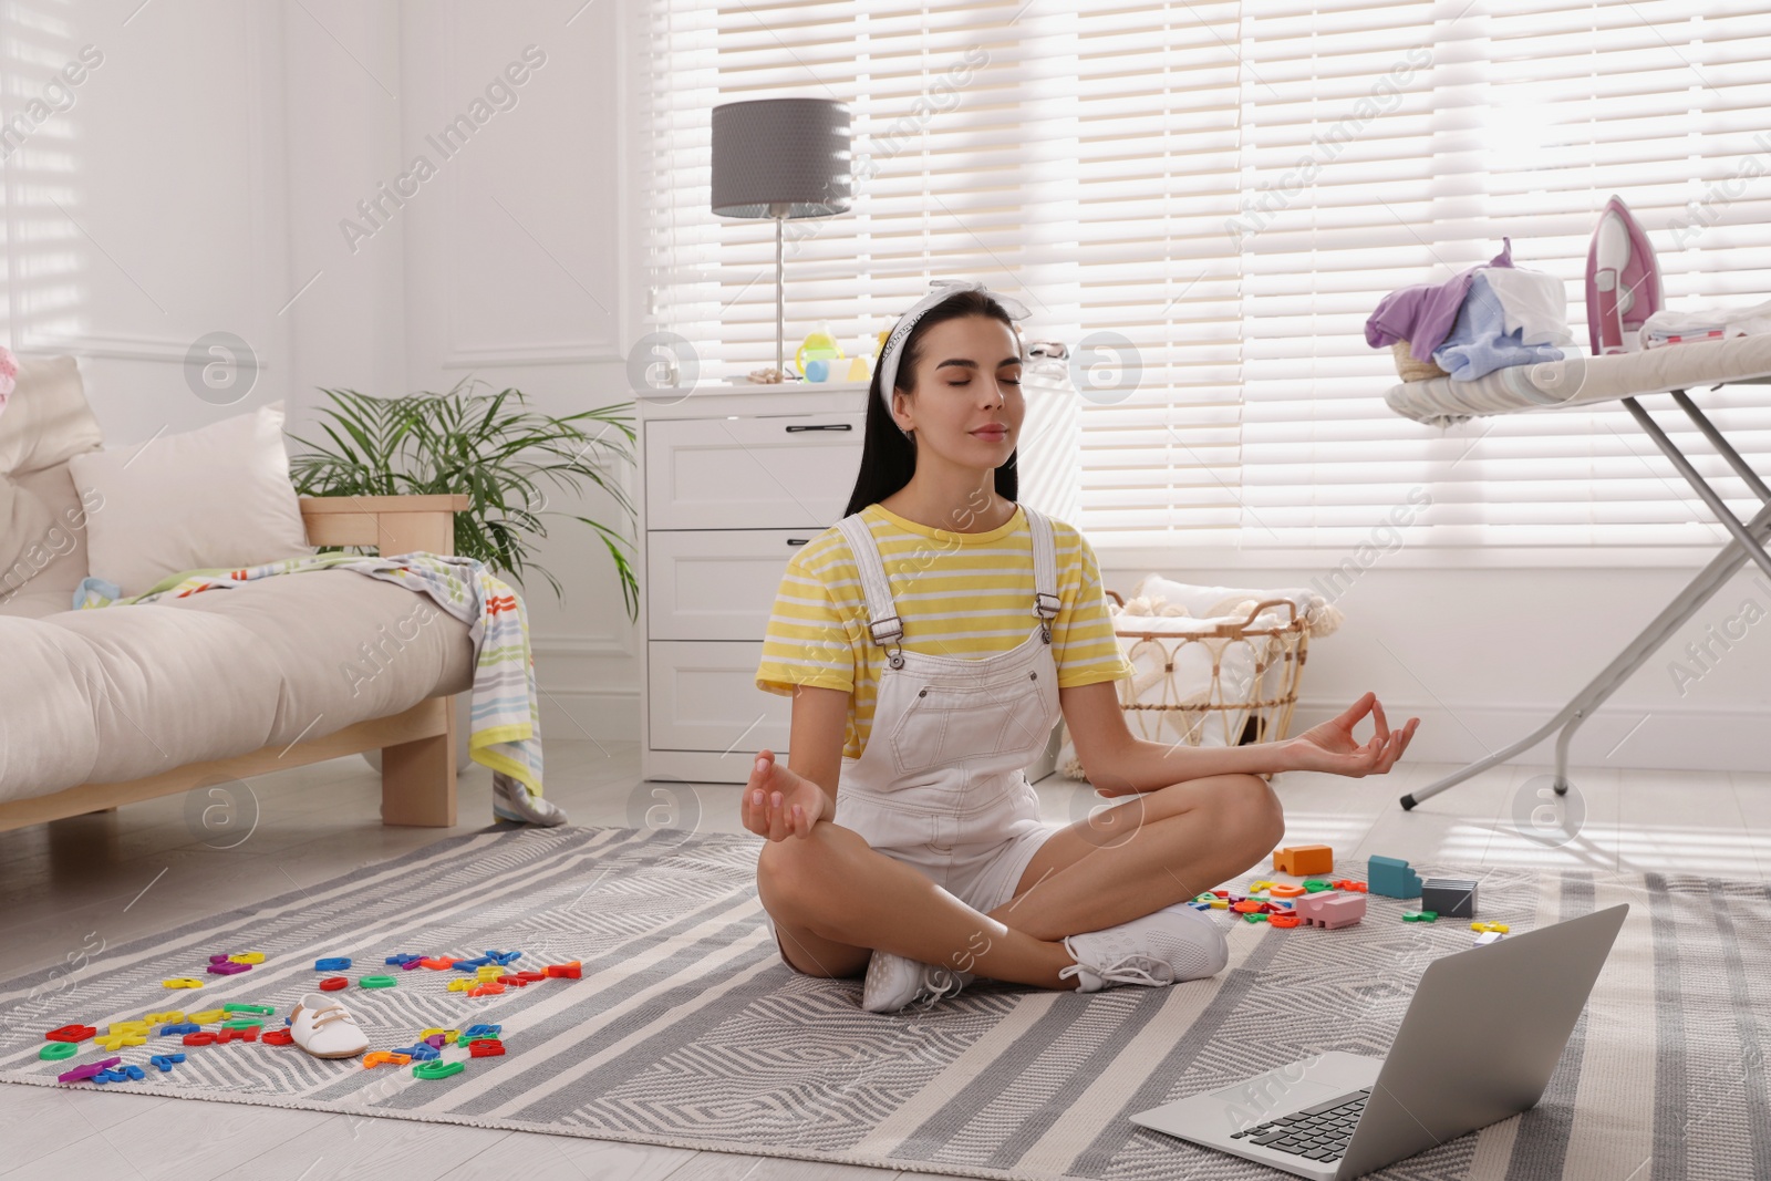
M 73 591 L 87 575 L 85 510 L 67 460 L 103 443 L 74 358 L 19 358 L 0 414 L 0 604 L 27 584 Z

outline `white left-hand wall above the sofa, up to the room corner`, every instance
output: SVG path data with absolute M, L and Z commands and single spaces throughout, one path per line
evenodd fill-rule
M 117 441 L 237 413 L 186 382 L 211 331 L 262 365 L 239 405 L 289 388 L 280 9 L 133 9 L 19 0 L 0 51 L 9 340 L 80 354 Z

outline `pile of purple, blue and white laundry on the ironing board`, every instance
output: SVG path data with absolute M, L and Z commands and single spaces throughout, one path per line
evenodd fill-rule
M 1512 239 L 1486 266 L 1443 283 L 1417 283 L 1385 296 L 1365 320 L 1365 343 L 1390 347 L 1403 381 L 1475 381 L 1507 365 L 1558 361 L 1567 329 L 1567 292 L 1544 271 L 1512 266 Z

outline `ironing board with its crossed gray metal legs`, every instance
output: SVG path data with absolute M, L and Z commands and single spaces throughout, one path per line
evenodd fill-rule
M 1720 554 L 1691 579 L 1677 598 L 1667 604 L 1652 623 L 1643 629 L 1612 660 L 1605 671 L 1574 694 L 1560 714 L 1544 722 L 1539 729 L 1520 738 L 1504 751 L 1477 760 L 1468 767 L 1445 776 L 1419 791 L 1403 797 L 1403 807 L 1411 809 L 1420 800 L 1431 799 L 1465 779 L 1477 776 L 1496 763 L 1504 763 L 1514 754 L 1532 749 L 1551 731 L 1560 729 L 1555 744 L 1555 791 L 1567 793 L 1567 747 L 1574 731 L 1599 705 L 1610 698 L 1617 687 L 1635 673 L 1643 660 L 1684 625 L 1734 574 L 1746 565 L 1748 558 L 1759 563 L 1771 575 L 1771 554 L 1766 552 L 1766 540 L 1771 538 L 1771 487 L 1746 466 L 1741 453 L 1721 437 L 1714 423 L 1704 416 L 1686 390 L 1698 386 L 1723 386 L 1736 382 L 1771 381 L 1771 336 L 1734 336 L 1730 340 L 1705 340 L 1645 352 L 1620 352 L 1594 358 L 1569 358 L 1564 361 L 1543 361 L 1537 365 L 1516 365 L 1495 370 L 1477 381 L 1452 381 L 1435 377 L 1431 381 L 1410 381 L 1392 386 L 1383 400 L 1392 411 L 1427 425 L 1450 425 L 1482 414 L 1512 414 L 1558 405 L 1585 405 L 1590 402 L 1622 400 L 1624 409 L 1647 432 L 1654 444 L 1672 460 L 1679 475 L 1690 482 L 1697 494 L 1716 513 L 1721 526 L 1732 535 Z M 1667 432 L 1636 402 L 1642 395 L 1670 393 L 1674 404 L 1682 409 L 1697 428 L 1704 434 L 1716 453 L 1721 455 L 1746 487 L 1764 503 L 1750 519 L 1737 519 L 1716 490 L 1698 475 L 1691 460 L 1686 459 Z

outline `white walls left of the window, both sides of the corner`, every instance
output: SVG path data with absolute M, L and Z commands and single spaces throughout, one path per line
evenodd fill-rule
M 80 356 L 108 444 L 276 398 L 308 434 L 321 386 L 627 400 L 616 21 L 611 0 L 9 4 L 0 96 L 28 126 L 5 159 L 4 340 Z M 34 119 L 69 62 L 80 81 Z M 445 152 L 457 115 L 483 122 Z M 432 174 L 395 204 L 420 154 Z M 186 363 L 214 331 L 244 342 L 250 388 L 250 367 L 211 390 L 211 356 Z M 627 531 L 600 492 L 556 506 Z M 634 629 L 604 545 L 561 521 L 538 558 L 565 586 L 528 593 L 544 733 L 630 738 Z

